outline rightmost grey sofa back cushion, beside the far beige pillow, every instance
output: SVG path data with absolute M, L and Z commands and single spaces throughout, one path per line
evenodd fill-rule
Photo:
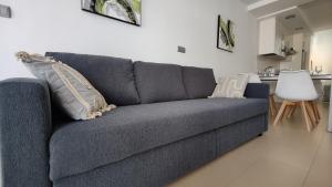
M 216 87 L 212 69 L 184 66 L 183 77 L 188 98 L 206 98 L 212 95 Z

